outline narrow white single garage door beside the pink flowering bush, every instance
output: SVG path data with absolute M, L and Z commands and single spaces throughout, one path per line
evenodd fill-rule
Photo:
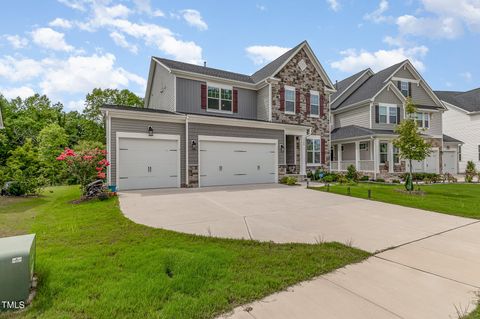
M 180 187 L 178 140 L 119 139 L 118 189 Z

